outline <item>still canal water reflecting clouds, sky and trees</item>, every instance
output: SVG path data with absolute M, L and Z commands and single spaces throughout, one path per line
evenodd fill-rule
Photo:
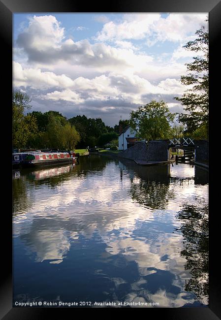
M 208 172 L 97 155 L 13 170 L 13 301 L 207 307 Z

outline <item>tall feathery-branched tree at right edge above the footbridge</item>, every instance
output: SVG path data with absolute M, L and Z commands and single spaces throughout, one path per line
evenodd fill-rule
M 190 73 L 181 76 L 181 83 L 190 85 L 191 89 L 186 90 L 181 98 L 174 97 L 187 111 L 186 114 L 180 114 L 179 121 L 187 126 L 186 132 L 190 134 L 201 126 L 208 127 L 209 111 L 209 32 L 202 26 L 195 34 L 198 37 L 189 41 L 184 48 L 200 55 L 186 64 Z

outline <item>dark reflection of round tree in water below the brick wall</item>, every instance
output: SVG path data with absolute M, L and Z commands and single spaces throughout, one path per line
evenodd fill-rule
M 168 200 L 174 197 L 169 186 L 156 181 L 140 180 L 138 184 L 131 183 L 129 192 L 133 200 L 152 209 L 165 209 Z

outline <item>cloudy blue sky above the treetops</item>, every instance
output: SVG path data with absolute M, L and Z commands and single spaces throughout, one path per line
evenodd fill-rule
M 101 118 L 113 127 L 155 99 L 183 112 L 174 96 L 196 55 L 183 46 L 208 13 L 17 13 L 13 87 L 31 111 Z M 197 53 L 197 56 L 200 52 Z M 29 110 L 30 112 L 30 110 Z

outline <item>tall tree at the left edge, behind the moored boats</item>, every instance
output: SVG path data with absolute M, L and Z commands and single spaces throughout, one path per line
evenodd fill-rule
M 19 90 L 12 91 L 12 143 L 14 148 L 25 147 L 32 134 L 37 132 L 36 118 L 28 114 L 25 109 L 30 109 L 31 99 Z

